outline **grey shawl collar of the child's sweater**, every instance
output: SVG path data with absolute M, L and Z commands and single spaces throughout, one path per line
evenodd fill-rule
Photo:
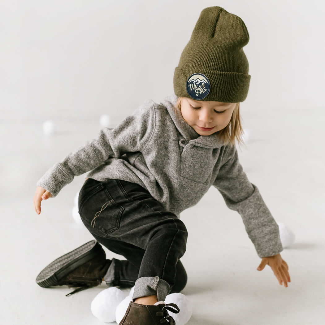
M 183 120 L 183 117 L 178 109 L 175 109 L 176 95 L 168 96 L 162 100 L 162 105 L 168 110 L 177 130 L 184 139 L 191 145 L 203 148 L 220 148 L 224 143 L 219 139 L 218 132 L 211 136 L 200 136 L 188 123 Z

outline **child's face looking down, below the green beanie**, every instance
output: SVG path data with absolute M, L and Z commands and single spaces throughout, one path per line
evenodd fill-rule
M 225 128 L 235 108 L 236 103 L 181 98 L 183 119 L 201 136 L 210 136 Z

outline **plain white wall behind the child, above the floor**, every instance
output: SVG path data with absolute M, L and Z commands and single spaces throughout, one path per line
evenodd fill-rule
M 0 1 L 0 113 L 49 119 L 131 113 L 173 92 L 201 10 L 241 17 L 252 75 L 247 110 L 323 107 L 324 2 L 310 0 Z M 117 113 L 118 112 L 118 113 Z

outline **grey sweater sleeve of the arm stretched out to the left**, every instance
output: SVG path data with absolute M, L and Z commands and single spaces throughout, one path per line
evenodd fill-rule
M 37 185 L 55 197 L 65 185 L 72 182 L 74 176 L 98 167 L 109 158 L 119 158 L 126 152 L 143 149 L 154 131 L 154 110 L 151 107 L 146 102 L 116 128 L 101 129 L 96 137 L 52 166 Z

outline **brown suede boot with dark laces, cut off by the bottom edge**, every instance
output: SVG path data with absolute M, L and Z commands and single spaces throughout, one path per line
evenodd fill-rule
M 160 301 L 155 305 L 140 305 L 131 301 L 119 325 L 175 325 L 175 320 L 168 315 L 168 310 L 179 313 L 175 304 Z

